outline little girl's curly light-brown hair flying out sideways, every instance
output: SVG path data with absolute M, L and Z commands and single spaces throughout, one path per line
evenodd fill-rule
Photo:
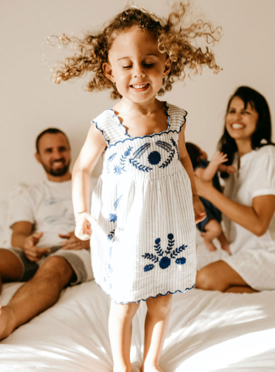
M 111 89 L 111 98 L 121 97 L 113 84 L 104 74 L 102 64 L 108 62 L 108 52 L 117 34 L 137 26 L 146 30 L 156 38 L 158 50 L 166 53 L 172 61 L 169 74 L 163 79 L 163 84 L 158 94 L 171 90 L 175 80 L 184 80 L 186 71 L 196 74 L 207 65 L 215 73 L 220 67 L 215 63 L 211 49 L 206 45 L 205 51 L 201 47 L 194 46 L 201 37 L 205 38 L 206 44 L 218 41 L 221 36 L 221 28 L 213 28 L 210 23 L 198 20 L 189 27 L 183 27 L 184 16 L 188 4 L 180 2 L 174 6 L 166 21 L 144 8 L 131 6 L 118 14 L 113 21 L 97 35 L 86 35 L 83 39 L 69 37 L 65 34 L 54 36 L 61 44 L 75 44 L 75 52 L 67 57 L 61 65 L 55 69 L 54 81 L 69 80 L 91 72 L 91 78 L 87 84 L 89 91 Z M 51 42 L 51 37 L 48 38 Z

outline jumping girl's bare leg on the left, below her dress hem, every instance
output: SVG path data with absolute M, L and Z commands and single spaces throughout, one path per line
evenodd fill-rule
M 109 314 L 109 336 L 113 354 L 114 372 L 131 372 L 130 350 L 132 320 L 138 304 L 128 305 L 111 302 Z

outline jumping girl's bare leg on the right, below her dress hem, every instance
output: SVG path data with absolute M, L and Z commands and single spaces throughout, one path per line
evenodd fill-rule
M 172 295 L 150 298 L 146 304 L 144 355 L 140 372 L 163 372 L 159 361 L 168 328 Z

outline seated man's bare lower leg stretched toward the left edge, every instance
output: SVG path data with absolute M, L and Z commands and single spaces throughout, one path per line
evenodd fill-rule
M 74 272 L 65 258 L 48 258 L 34 277 L 23 284 L 10 302 L 1 308 L 0 339 L 53 306 L 73 275 Z

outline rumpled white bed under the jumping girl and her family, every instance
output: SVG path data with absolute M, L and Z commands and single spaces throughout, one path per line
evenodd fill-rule
M 205 248 L 200 246 L 199 254 L 202 264 Z M 4 284 L 3 304 L 20 285 Z M 0 372 L 111 372 L 109 305 L 94 281 L 65 289 L 54 307 L 0 342 Z M 133 324 L 133 371 L 141 364 L 145 311 L 142 302 Z M 274 372 L 275 291 L 193 289 L 173 295 L 161 367 L 165 372 Z

